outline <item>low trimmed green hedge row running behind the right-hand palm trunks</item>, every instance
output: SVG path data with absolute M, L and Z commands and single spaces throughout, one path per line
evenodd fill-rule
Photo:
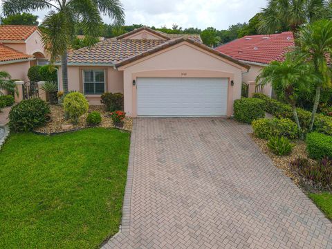
M 264 100 L 264 110 L 267 113 L 272 114 L 276 118 L 289 118 L 294 121 L 293 111 L 289 104 L 273 100 L 262 93 L 255 93 L 253 97 Z M 297 116 L 299 117 L 299 123 L 301 124 L 302 129 L 304 132 L 307 131 L 311 122 L 311 111 L 297 108 Z M 316 114 L 313 129 L 332 136 L 332 117 Z

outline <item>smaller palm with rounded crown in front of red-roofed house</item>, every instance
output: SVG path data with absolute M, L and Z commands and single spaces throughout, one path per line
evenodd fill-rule
M 272 84 L 273 89 L 277 89 L 278 97 L 291 104 L 293 118 L 303 137 L 296 104 L 299 94 L 309 91 L 311 82 L 315 80 L 317 77 L 313 74 L 311 64 L 299 62 L 297 57 L 291 53 L 287 55 L 284 62 L 274 61 L 263 68 L 256 81 L 263 86 Z

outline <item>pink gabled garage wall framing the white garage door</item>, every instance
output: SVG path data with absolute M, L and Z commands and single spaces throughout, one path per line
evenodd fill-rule
M 153 55 L 119 68 L 124 71 L 124 111 L 136 117 L 137 77 L 227 77 L 228 116 L 232 115 L 233 102 L 241 98 L 242 73 L 246 71 L 217 55 L 208 53 L 187 42 L 177 44 Z M 234 86 L 231 86 L 231 81 Z

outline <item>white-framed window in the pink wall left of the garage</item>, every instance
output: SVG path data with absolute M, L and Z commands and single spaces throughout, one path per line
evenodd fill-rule
M 105 91 L 104 70 L 83 71 L 84 94 L 102 94 Z

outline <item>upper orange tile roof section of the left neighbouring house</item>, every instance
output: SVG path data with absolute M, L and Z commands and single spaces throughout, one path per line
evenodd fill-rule
M 25 41 L 36 30 L 37 26 L 1 25 L 0 41 Z

